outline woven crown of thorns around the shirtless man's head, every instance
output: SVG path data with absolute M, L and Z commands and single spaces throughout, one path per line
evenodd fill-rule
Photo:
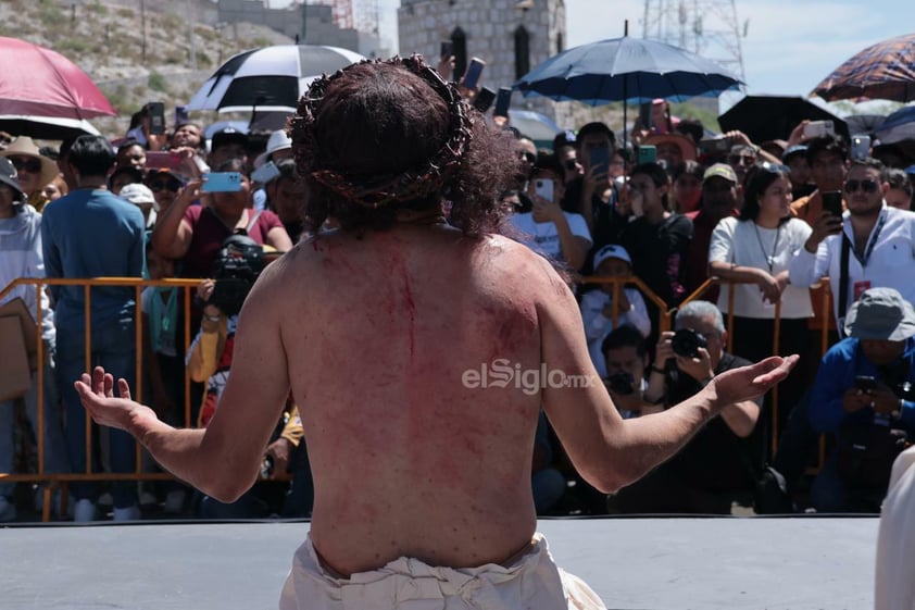
M 315 138 L 315 111 L 324 99 L 327 87 L 341 77 L 347 70 L 364 63 L 387 63 L 403 66 L 426 82 L 448 103 L 450 116 L 449 136 L 444 145 L 422 165 L 393 174 L 380 176 L 354 176 L 346 172 L 321 169 L 321 147 Z M 297 159 L 305 172 L 310 169 L 312 178 L 348 200 L 366 208 L 380 208 L 398 201 L 411 201 L 441 190 L 446 180 L 460 165 L 461 158 L 471 141 L 473 119 L 468 105 L 458 89 L 446 83 L 438 72 L 427 65 L 421 55 L 409 59 L 394 57 L 390 60 L 364 60 L 331 76 L 324 75 L 314 80 L 308 92 L 299 100 L 298 116 L 292 121 L 298 128 L 299 142 L 303 145 Z

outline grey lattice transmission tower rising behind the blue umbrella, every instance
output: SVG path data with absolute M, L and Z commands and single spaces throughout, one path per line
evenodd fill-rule
M 740 39 L 748 24 L 738 21 L 735 0 L 644 0 L 642 37 L 716 61 L 745 82 Z

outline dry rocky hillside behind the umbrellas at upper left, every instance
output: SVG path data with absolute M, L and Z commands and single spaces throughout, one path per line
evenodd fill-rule
M 212 15 L 212 7 L 208 0 L 3 0 L 0 36 L 51 48 L 89 74 L 118 112 L 92 124 L 115 137 L 147 101 L 165 102 L 170 113 L 187 103 L 233 54 L 292 42 L 263 26 L 206 25 L 203 17 L 208 11 Z

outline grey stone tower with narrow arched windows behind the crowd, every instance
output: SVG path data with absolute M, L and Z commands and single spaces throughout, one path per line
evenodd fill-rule
M 417 52 L 435 64 L 442 40 L 451 40 L 455 78 L 471 58 L 486 62 L 480 85 L 509 87 L 546 59 L 565 50 L 563 0 L 401 0 L 398 37 L 402 57 Z M 513 108 L 542 112 L 560 125 L 563 105 L 515 92 Z

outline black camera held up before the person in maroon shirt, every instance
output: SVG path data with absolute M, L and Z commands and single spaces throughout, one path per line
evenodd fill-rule
M 264 249 L 260 244 L 246 235 L 226 238 L 213 262 L 216 282 L 209 302 L 226 315 L 235 315 L 263 269 Z

